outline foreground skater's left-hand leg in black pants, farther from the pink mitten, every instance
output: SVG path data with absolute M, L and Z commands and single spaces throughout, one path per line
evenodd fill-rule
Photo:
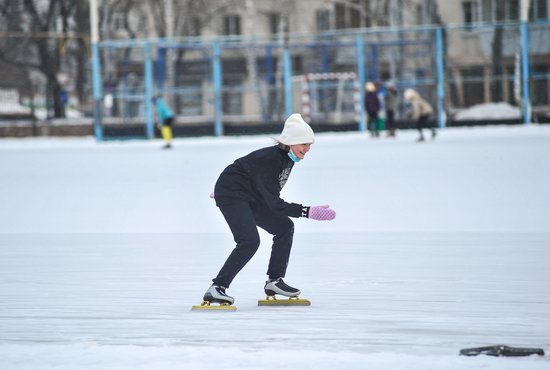
M 220 206 L 236 243 L 218 276 L 215 285 L 228 288 L 235 276 L 247 264 L 260 246 L 260 236 L 250 205 L 246 202 Z

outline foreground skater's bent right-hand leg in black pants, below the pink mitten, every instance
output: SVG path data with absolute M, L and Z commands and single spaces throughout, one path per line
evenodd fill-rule
M 294 223 L 289 217 L 269 210 L 255 210 L 254 214 L 258 226 L 273 235 L 267 275 L 271 279 L 284 277 L 294 239 Z

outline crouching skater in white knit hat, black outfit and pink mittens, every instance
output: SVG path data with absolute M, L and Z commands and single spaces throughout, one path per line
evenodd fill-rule
M 212 286 L 204 294 L 206 302 L 233 304 L 234 299 L 227 295 L 226 289 L 258 250 L 258 227 L 273 235 L 265 293 L 268 296 L 298 296 L 300 290 L 283 281 L 294 237 L 294 223 L 290 217 L 314 220 L 336 217 L 336 212 L 328 205 L 309 207 L 287 203 L 280 197 L 294 164 L 304 159 L 314 142 L 311 127 L 300 114 L 292 114 L 275 141 L 275 145 L 235 160 L 216 182 L 211 196 L 233 233 L 236 247 L 212 279 Z

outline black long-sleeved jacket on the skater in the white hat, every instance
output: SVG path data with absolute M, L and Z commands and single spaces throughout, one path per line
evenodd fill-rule
M 216 182 L 216 205 L 245 201 L 290 217 L 302 216 L 301 204 L 287 203 L 280 197 L 293 166 L 288 152 L 279 146 L 258 149 L 237 159 Z

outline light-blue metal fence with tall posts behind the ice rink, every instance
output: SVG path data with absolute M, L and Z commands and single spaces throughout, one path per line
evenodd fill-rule
M 410 124 L 406 88 L 433 105 L 440 127 L 550 120 L 550 22 L 106 40 L 91 51 L 91 65 L 80 67 L 80 73 L 91 70 L 87 88 L 75 99 L 67 84 L 67 108 L 71 116 L 94 111 L 98 140 L 154 137 L 155 95 L 175 111 L 176 136 L 276 131 L 293 112 L 318 129 L 364 131 L 368 81 L 381 96 L 388 82 L 397 87 L 401 128 Z M 72 81 L 79 72 L 68 57 L 66 63 Z M 32 80 L 40 86 L 40 78 Z M 0 94 L 29 108 L 24 90 L 0 82 Z M 41 101 L 48 107 L 45 87 L 31 91 L 34 108 Z M 505 114 L 472 114 L 491 103 Z M 39 119 L 51 117 L 49 106 Z

